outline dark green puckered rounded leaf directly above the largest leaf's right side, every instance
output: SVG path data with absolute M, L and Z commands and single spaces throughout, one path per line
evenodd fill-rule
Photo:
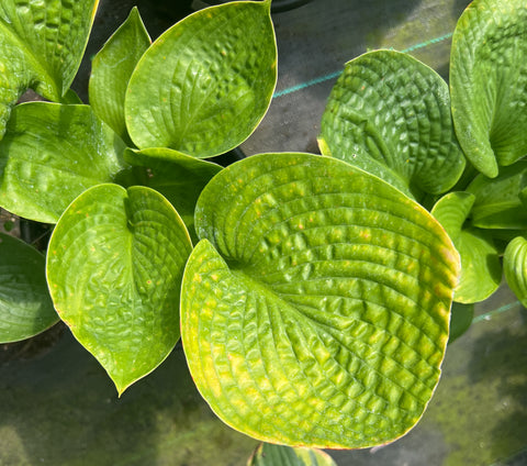
M 450 189 L 464 168 L 447 84 L 399 52 L 375 51 L 349 62 L 321 129 L 322 147 L 332 156 L 417 196 Z

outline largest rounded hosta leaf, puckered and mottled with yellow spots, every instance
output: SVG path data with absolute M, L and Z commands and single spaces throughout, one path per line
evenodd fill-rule
M 264 154 L 203 190 L 181 337 L 227 424 L 290 446 L 403 435 L 439 378 L 458 255 L 418 204 L 340 160 Z

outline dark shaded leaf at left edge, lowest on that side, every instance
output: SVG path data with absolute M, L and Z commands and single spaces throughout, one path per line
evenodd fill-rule
M 44 256 L 0 233 L 0 343 L 29 339 L 57 321 L 47 291 Z

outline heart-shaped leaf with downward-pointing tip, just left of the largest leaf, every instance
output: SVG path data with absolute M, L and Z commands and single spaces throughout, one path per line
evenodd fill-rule
M 191 245 L 158 192 L 99 185 L 61 215 L 49 242 L 55 309 L 122 393 L 179 339 L 179 293 Z

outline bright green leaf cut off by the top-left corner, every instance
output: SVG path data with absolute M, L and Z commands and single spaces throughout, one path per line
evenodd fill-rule
M 66 96 L 88 42 L 99 0 L 0 2 L 0 137 L 12 106 L 32 87 Z

